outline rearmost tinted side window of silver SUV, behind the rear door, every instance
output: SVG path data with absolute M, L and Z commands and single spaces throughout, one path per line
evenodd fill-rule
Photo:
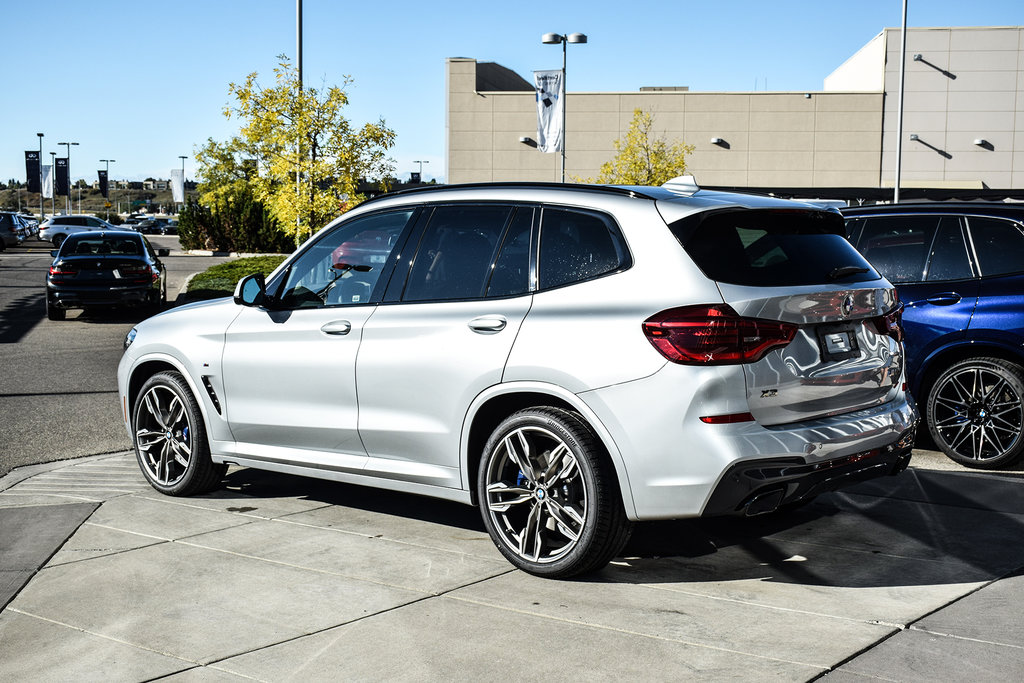
M 546 208 L 539 261 L 540 288 L 550 289 L 617 270 L 629 264 L 629 255 L 609 218 Z

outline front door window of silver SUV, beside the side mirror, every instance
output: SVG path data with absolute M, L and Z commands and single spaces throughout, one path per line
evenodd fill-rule
M 413 210 L 362 216 L 338 225 L 291 264 L 279 302 L 286 308 L 361 304 L 373 299 Z M 276 291 L 273 284 L 268 291 Z

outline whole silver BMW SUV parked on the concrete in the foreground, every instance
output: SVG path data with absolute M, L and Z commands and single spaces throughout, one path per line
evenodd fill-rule
M 228 465 L 479 506 L 540 575 L 637 520 L 760 514 L 902 471 L 893 287 L 838 213 L 662 187 L 454 185 L 334 221 L 125 340 L 155 488 Z

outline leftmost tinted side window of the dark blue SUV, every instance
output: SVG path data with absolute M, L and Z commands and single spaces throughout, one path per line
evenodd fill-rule
M 920 283 L 939 216 L 880 216 L 864 221 L 857 248 L 891 283 Z

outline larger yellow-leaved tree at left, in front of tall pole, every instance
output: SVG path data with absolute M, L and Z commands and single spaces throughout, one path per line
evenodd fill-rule
M 383 119 L 356 128 L 344 117 L 347 77 L 342 87 L 300 89 L 297 71 L 279 59 L 272 87 L 260 86 L 256 73 L 229 85 L 236 104 L 224 115 L 241 120 L 241 134 L 200 150 L 200 194 L 224 197 L 248 184 L 299 243 L 364 199 L 360 179 L 394 172 L 386 158 L 394 131 Z

